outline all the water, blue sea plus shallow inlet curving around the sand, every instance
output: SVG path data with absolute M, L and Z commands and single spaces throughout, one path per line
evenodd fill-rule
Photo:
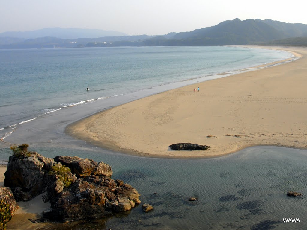
M 47 157 L 103 161 L 113 179 L 130 183 L 142 203 L 154 206 L 73 229 L 306 229 L 306 199 L 286 196 L 307 192 L 306 150 L 257 146 L 212 159 L 157 159 L 101 149 L 64 132 L 96 112 L 291 56 L 243 47 L 0 50 L 0 161 L 11 155 L 8 143 L 28 143 Z

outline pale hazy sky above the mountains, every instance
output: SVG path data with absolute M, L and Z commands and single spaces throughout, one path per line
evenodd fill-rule
M 225 20 L 307 24 L 304 1 L 1 0 L 0 32 L 48 27 L 115 30 L 128 35 L 192 31 Z M 304 4 L 305 5 L 305 4 Z

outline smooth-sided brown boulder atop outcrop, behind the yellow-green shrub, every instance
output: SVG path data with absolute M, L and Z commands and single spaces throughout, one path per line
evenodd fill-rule
M 94 160 L 87 158 L 83 159 L 78 156 L 56 156 L 54 160 L 70 168 L 71 172 L 76 174 L 77 178 L 84 178 L 91 175 L 97 166 L 97 162 Z

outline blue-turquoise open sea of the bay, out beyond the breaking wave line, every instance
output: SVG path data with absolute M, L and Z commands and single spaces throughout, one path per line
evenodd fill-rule
M 238 47 L 0 50 L 0 138 L 17 124 L 69 106 L 130 92 L 140 94 L 181 81 L 166 90 L 193 83 L 182 82 L 187 79 L 205 81 L 212 74 L 289 56 L 283 51 Z

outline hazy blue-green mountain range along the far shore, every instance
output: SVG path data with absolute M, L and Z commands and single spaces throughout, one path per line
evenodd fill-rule
M 53 28 L 54 29 L 54 28 Z M 84 38 L 74 38 L 74 31 L 80 29 L 41 29 L 36 32 L 20 32 L 14 36 L 14 32 L 0 34 L 0 48 L 39 48 L 39 47 L 109 47 L 109 46 L 212 46 L 212 45 L 245 45 L 245 44 L 281 44 L 291 43 L 296 45 L 306 44 L 307 25 L 301 23 L 286 23 L 270 19 L 235 18 L 227 20 L 211 27 L 200 28 L 190 32 L 169 33 L 166 35 L 138 35 L 127 36 L 114 34 L 110 36 L 93 36 L 95 30 L 79 31 Z M 60 29 L 60 30 L 59 30 Z M 44 31 L 46 33 L 44 33 Z M 48 31 L 48 33 L 47 33 Z M 56 31 L 62 31 L 59 36 Z M 98 30 L 97 30 L 98 31 Z M 16 32 L 17 33 L 17 32 Z M 120 32 L 117 32 L 120 33 Z M 26 39 L 21 36 L 41 37 Z M 66 35 L 65 35 L 66 34 Z M 94 33 L 95 34 L 95 33 Z M 10 36 L 8 36 L 10 35 Z M 17 35 L 17 34 L 15 34 Z M 65 35 L 65 39 L 63 36 Z M 299 39 L 298 39 L 299 38 Z

